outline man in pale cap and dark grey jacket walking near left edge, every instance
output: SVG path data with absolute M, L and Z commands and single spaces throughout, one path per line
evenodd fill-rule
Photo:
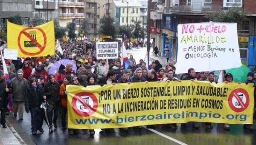
M 12 91 L 12 111 L 14 118 L 19 114 L 19 119 L 23 120 L 23 110 L 25 102 L 25 92 L 28 87 L 28 81 L 23 77 L 24 72 L 22 69 L 17 71 L 17 77 L 11 80 Z

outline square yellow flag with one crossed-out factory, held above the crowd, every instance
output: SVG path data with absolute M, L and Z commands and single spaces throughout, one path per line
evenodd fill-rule
M 18 57 L 54 55 L 53 21 L 36 27 L 24 27 L 7 22 L 7 48 L 17 49 Z

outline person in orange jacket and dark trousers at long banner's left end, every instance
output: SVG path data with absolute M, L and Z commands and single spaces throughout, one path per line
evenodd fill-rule
M 67 116 L 67 94 L 66 86 L 70 84 L 71 76 L 66 75 L 63 80 L 63 84 L 60 87 L 61 96 L 61 127 L 67 129 L 66 116 Z

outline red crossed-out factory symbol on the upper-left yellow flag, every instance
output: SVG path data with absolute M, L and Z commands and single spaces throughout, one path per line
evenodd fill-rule
M 32 34 L 29 34 L 28 32 L 26 32 L 27 30 L 30 30 L 29 33 L 31 32 Z M 43 46 L 40 43 L 38 43 L 38 41 L 36 40 L 36 35 L 39 35 L 39 34 L 36 34 L 35 30 L 38 30 L 39 32 L 42 33 L 42 36 L 44 38 L 44 45 Z M 30 41 L 22 40 L 21 37 L 23 35 L 25 35 L 25 37 L 29 38 Z M 20 42 L 21 40 L 23 42 Z M 21 46 L 21 43 L 24 43 L 24 46 Z M 46 44 L 47 44 L 46 34 L 45 34 L 43 29 L 38 28 L 38 27 L 35 27 L 35 28 L 31 28 L 31 27 L 24 28 L 23 30 L 20 31 L 20 34 L 18 35 L 18 46 L 19 46 L 19 49 L 20 49 L 20 51 L 23 54 L 26 54 L 26 55 L 34 56 L 34 55 L 37 55 L 37 54 L 41 54 L 41 52 L 44 51 L 44 48 L 46 47 Z M 28 52 L 27 50 L 29 50 L 29 48 L 31 48 L 31 47 L 37 47 L 37 48 L 39 48 L 40 51 L 35 52 L 35 53 Z

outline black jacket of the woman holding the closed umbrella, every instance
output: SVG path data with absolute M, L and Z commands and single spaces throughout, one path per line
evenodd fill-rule
M 41 103 L 44 102 L 44 89 L 41 85 L 38 85 L 36 89 L 29 86 L 26 88 L 25 95 L 25 110 L 29 113 L 30 108 L 32 107 L 40 107 Z

